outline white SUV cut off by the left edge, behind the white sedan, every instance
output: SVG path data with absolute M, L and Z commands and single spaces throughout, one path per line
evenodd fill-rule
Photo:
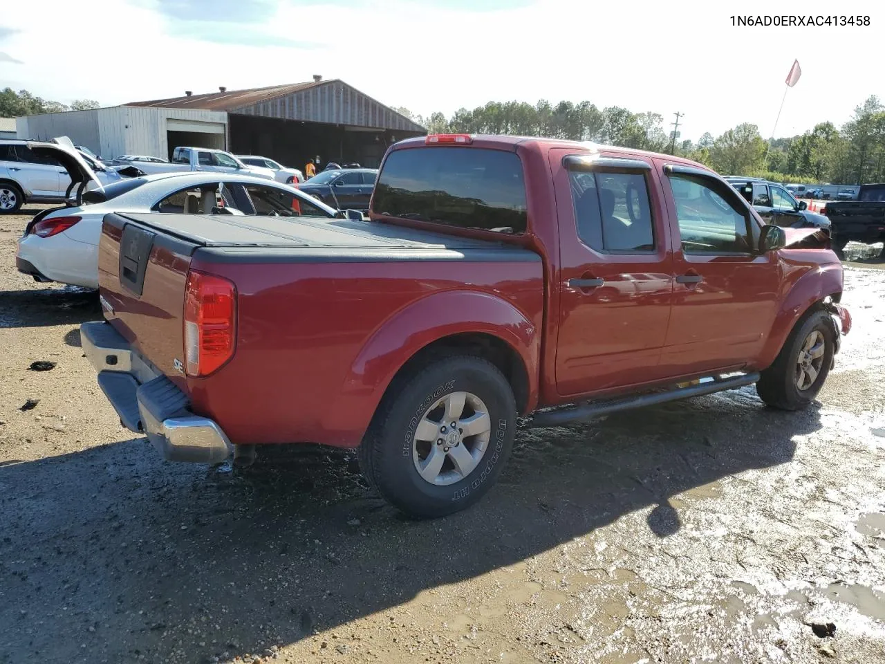
M 66 145 L 70 139 L 62 136 L 53 143 Z M 38 154 L 31 149 L 37 144 L 46 143 L 0 140 L 0 214 L 18 212 L 28 202 L 65 202 L 71 178 L 65 166 L 51 153 L 42 151 Z M 73 149 L 73 143 L 68 147 Z M 106 168 L 82 154 L 81 158 L 94 169 L 102 185 L 124 177 L 116 168 Z

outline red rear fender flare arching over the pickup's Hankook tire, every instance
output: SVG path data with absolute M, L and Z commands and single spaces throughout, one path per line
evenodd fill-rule
M 446 336 L 487 334 L 519 354 L 528 374 L 528 410 L 538 390 L 540 330 L 509 302 L 488 293 L 447 290 L 394 313 L 374 332 L 350 366 L 324 428 L 356 446 L 396 372 L 422 348 Z

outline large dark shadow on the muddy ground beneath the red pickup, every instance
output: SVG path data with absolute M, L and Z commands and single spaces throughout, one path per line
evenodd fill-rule
M 749 388 L 520 431 L 498 486 L 438 521 L 402 518 L 350 454 L 313 447 L 242 475 L 165 464 L 143 439 L 0 467 L 0 662 L 256 653 L 638 509 L 666 537 L 670 497 L 788 462 L 820 426 Z

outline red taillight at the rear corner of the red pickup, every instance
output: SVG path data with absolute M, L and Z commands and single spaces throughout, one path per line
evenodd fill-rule
M 232 282 L 191 270 L 184 295 L 184 355 L 188 375 L 212 374 L 234 354 L 236 289 Z

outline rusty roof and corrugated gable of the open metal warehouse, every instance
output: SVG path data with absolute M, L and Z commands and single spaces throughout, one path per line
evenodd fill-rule
M 172 97 L 127 106 L 192 108 L 305 122 L 427 133 L 425 127 L 339 79 Z

